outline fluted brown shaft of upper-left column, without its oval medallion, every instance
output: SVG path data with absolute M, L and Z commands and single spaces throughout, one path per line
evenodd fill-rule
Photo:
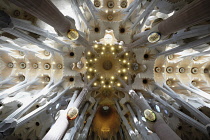
M 50 0 L 10 0 L 61 33 L 67 33 L 73 21 L 66 18 Z M 72 19 L 73 20 L 73 19 Z

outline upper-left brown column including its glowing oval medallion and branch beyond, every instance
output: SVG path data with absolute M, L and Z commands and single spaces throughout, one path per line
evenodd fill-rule
M 50 0 L 10 1 L 21 7 L 23 10 L 51 25 L 55 28 L 55 30 L 59 31 L 65 37 L 68 37 L 72 41 L 76 40 L 79 44 L 82 44 L 92 51 L 91 45 L 88 43 L 88 41 L 76 30 L 74 19 L 65 17 Z

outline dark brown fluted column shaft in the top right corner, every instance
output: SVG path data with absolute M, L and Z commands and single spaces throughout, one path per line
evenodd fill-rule
M 161 35 L 169 35 L 180 29 L 201 23 L 210 19 L 210 0 L 194 0 L 189 5 L 161 22 L 158 30 Z

